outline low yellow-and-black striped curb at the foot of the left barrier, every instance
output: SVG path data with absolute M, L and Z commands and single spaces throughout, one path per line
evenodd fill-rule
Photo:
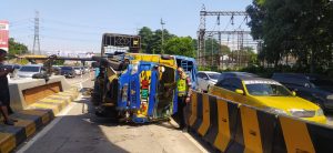
M 77 88 L 49 95 L 27 110 L 17 112 L 10 118 L 17 119 L 14 125 L 0 124 L 0 153 L 13 151 L 39 130 L 49 124 L 54 116 L 79 96 Z

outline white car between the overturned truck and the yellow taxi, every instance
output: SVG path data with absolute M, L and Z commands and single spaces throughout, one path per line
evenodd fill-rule
M 199 71 L 196 73 L 196 84 L 199 90 L 208 92 L 210 86 L 218 83 L 221 73 L 212 71 Z

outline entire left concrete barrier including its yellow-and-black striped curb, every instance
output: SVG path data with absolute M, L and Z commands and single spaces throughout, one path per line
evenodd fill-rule
M 9 81 L 10 115 L 18 122 L 13 126 L 0 123 L 0 153 L 13 151 L 47 125 L 61 110 L 78 98 L 79 91 L 64 76 L 43 79 L 12 79 Z

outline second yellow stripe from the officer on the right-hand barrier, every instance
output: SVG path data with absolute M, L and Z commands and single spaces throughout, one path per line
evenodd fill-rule
M 200 135 L 204 135 L 206 131 L 210 128 L 210 101 L 209 101 L 209 95 L 208 94 L 202 94 L 203 101 L 202 101 L 202 123 L 198 130 L 198 133 Z

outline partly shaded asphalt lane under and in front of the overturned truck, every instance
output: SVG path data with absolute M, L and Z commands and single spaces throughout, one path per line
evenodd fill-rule
M 69 79 L 79 86 L 93 85 L 89 74 Z M 84 82 L 82 82 L 84 81 Z M 81 96 L 72 102 L 62 114 L 28 141 L 18 152 L 36 153 L 199 153 L 206 152 L 188 133 L 174 129 L 170 123 L 119 124 L 97 118 L 89 102 Z

